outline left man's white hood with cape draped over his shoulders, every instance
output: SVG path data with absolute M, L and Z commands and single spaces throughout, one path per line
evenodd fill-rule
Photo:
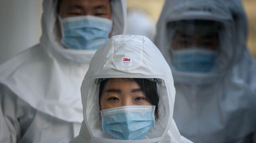
M 0 65 L 0 83 L 33 108 L 56 118 L 81 122 L 80 86 L 94 50 L 65 49 L 57 36 L 57 0 L 43 1 L 40 44 Z M 126 2 L 111 0 L 113 31 L 125 31 Z

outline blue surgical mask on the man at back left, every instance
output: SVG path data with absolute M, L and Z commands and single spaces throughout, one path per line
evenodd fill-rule
M 108 39 L 112 21 L 91 15 L 61 19 L 61 42 L 68 49 L 97 50 Z

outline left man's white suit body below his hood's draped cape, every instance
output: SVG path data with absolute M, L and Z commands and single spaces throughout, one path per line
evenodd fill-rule
M 0 143 L 66 143 L 77 134 L 75 123 L 35 110 L 6 86 L 0 89 Z

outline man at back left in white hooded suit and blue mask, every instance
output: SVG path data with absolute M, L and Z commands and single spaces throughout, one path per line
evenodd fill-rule
M 40 43 L 0 65 L 0 143 L 67 143 L 78 135 L 90 59 L 125 31 L 125 0 L 44 0 Z

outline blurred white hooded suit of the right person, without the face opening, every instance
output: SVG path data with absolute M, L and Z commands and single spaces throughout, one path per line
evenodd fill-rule
M 211 72 L 176 71 L 166 24 L 213 20 L 223 25 L 219 53 Z M 172 69 L 176 99 L 174 120 L 195 143 L 252 142 L 256 128 L 256 64 L 246 43 L 246 18 L 239 0 L 169 0 L 157 25 L 156 46 Z

